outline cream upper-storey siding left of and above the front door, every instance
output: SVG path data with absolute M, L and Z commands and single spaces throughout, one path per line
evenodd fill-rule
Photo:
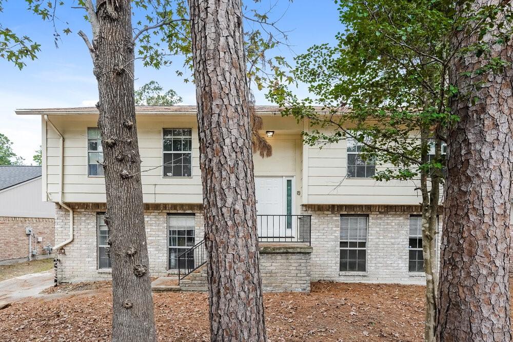
M 278 118 L 278 117 L 277 117 Z M 64 200 L 65 202 L 105 202 L 104 177 L 87 174 L 87 128 L 95 127 L 94 116 L 70 118 L 50 116 L 50 120 L 65 137 L 64 149 Z M 199 160 L 198 130 L 195 116 L 188 117 L 143 117 L 138 118 L 137 134 L 141 153 L 141 176 L 143 195 L 146 203 L 202 203 L 201 170 Z M 280 118 L 287 128 L 297 126 Z M 272 119 L 266 122 L 274 125 Z M 192 176 L 163 177 L 163 128 L 192 128 Z M 272 129 L 278 129 L 273 127 Z M 59 198 L 60 182 L 60 139 L 51 129 L 46 128 L 46 191 L 52 201 Z M 301 161 L 301 137 L 277 134 L 271 140 L 273 155 L 262 159 L 254 156 L 256 176 L 296 176 Z M 299 178 L 297 177 L 298 182 Z M 296 186 L 300 188 L 300 184 Z M 299 201 L 297 201 L 299 206 Z

